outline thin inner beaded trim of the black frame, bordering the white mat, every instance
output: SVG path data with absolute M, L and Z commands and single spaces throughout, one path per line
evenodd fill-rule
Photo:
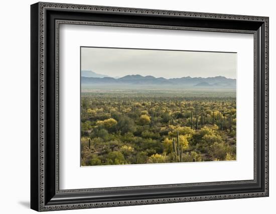
M 244 30 L 222 30 L 222 29 L 208 29 L 208 28 L 187 28 L 187 27 L 172 27 L 172 26 L 156 26 L 156 25 L 136 25 L 136 24 L 118 24 L 118 23 L 101 23 L 101 22 L 80 22 L 80 21 L 66 21 L 56 20 L 56 174 L 59 175 L 59 27 L 61 24 L 65 25 L 90 25 L 90 26 L 109 26 L 109 27 L 127 27 L 127 28 L 152 28 L 152 29 L 165 29 L 165 30 L 185 30 L 185 31 L 206 31 L 206 32 L 224 32 L 224 33 L 245 33 L 253 34 L 254 49 L 256 46 L 256 33 L 254 31 Z M 254 53 L 254 58 L 256 54 Z M 254 71 L 256 70 L 254 65 Z M 256 84 L 256 75 L 254 72 L 254 85 Z M 254 97 L 256 91 L 254 90 Z M 254 102 L 256 99 L 254 98 Z M 256 105 L 254 104 L 254 115 L 256 114 Z M 255 121 L 254 121 L 255 123 Z M 256 124 L 254 124 L 254 128 Z M 155 187 L 179 187 L 179 186 L 197 186 L 206 184 L 238 184 L 238 183 L 252 183 L 256 182 L 256 139 L 254 138 L 254 178 L 253 180 L 237 180 L 237 181 L 220 181 L 220 182 L 200 182 L 200 183 L 183 183 L 183 184 L 164 184 L 164 185 L 146 185 L 146 186 L 123 186 L 123 187 L 108 187 L 108 188 L 87 188 L 87 189 L 59 189 L 59 176 L 56 176 L 56 192 L 87 192 L 87 191 L 109 191 L 109 190 L 122 190 L 122 189 L 142 189 L 142 188 L 155 188 Z

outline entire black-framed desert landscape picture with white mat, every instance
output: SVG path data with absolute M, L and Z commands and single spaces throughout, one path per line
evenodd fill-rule
M 31 6 L 31 208 L 268 196 L 268 18 Z

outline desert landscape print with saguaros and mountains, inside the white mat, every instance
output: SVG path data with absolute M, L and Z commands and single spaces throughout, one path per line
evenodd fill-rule
M 81 166 L 236 160 L 236 53 L 80 52 Z

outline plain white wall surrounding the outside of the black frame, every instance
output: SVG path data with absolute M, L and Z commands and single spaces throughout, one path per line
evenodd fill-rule
M 150 1 L 60 0 L 71 4 L 179 10 L 269 17 L 270 52 L 270 196 L 219 201 L 54 211 L 51 213 L 273 213 L 276 201 L 276 119 L 274 73 L 276 14 L 274 1 Z M 0 201 L 1 213 L 35 213 L 30 203 L 30 5 L 35 1 L 1 4 L 0 34 Z M 273 97 L 274 96 L 274 97 Z

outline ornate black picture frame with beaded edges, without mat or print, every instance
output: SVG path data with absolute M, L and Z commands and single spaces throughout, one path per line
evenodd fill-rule
M 254 35 L 254 179 L 59 189 L 59 25 Z M 77 38 L 76 38 L 77 39 Z M 37 211 L 268 196 L 268 18 L 37 3 L 31 6 L 31 208 Z

